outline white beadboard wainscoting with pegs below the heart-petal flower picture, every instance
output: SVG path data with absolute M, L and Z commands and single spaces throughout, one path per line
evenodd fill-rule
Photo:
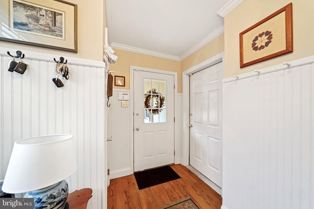
M 222 209 L 314 208 L 313 63 L 224 79 Z

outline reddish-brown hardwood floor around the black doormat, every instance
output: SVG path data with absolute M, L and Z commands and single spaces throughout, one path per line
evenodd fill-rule
M 155 209 L 190 196 L 200 209 L 220 209 L 221 196 L 181 164 L 171 165 L 180 179 L 138 190 L 134 175 L 110 180 L 108 209 Z

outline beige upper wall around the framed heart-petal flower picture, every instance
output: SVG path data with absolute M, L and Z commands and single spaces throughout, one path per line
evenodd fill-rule
M 292 2 L 293 52 L 240 69 L 239 33 Z M 313 0 L 245 0 L 225 17 L 225 77 L 314 54 Z

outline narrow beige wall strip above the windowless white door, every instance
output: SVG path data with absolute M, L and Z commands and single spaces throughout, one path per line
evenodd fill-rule
M 224 34 L 220 34 L 207 45 L 181 61 L 181 72 L 224 51 Z

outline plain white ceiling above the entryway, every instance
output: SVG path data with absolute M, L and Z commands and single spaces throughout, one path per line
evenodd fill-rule
M 239 0 L 106 0 L 108 44 L 181 60 L 193 47 L 221 34 L 223 12 L 238 4 Z

